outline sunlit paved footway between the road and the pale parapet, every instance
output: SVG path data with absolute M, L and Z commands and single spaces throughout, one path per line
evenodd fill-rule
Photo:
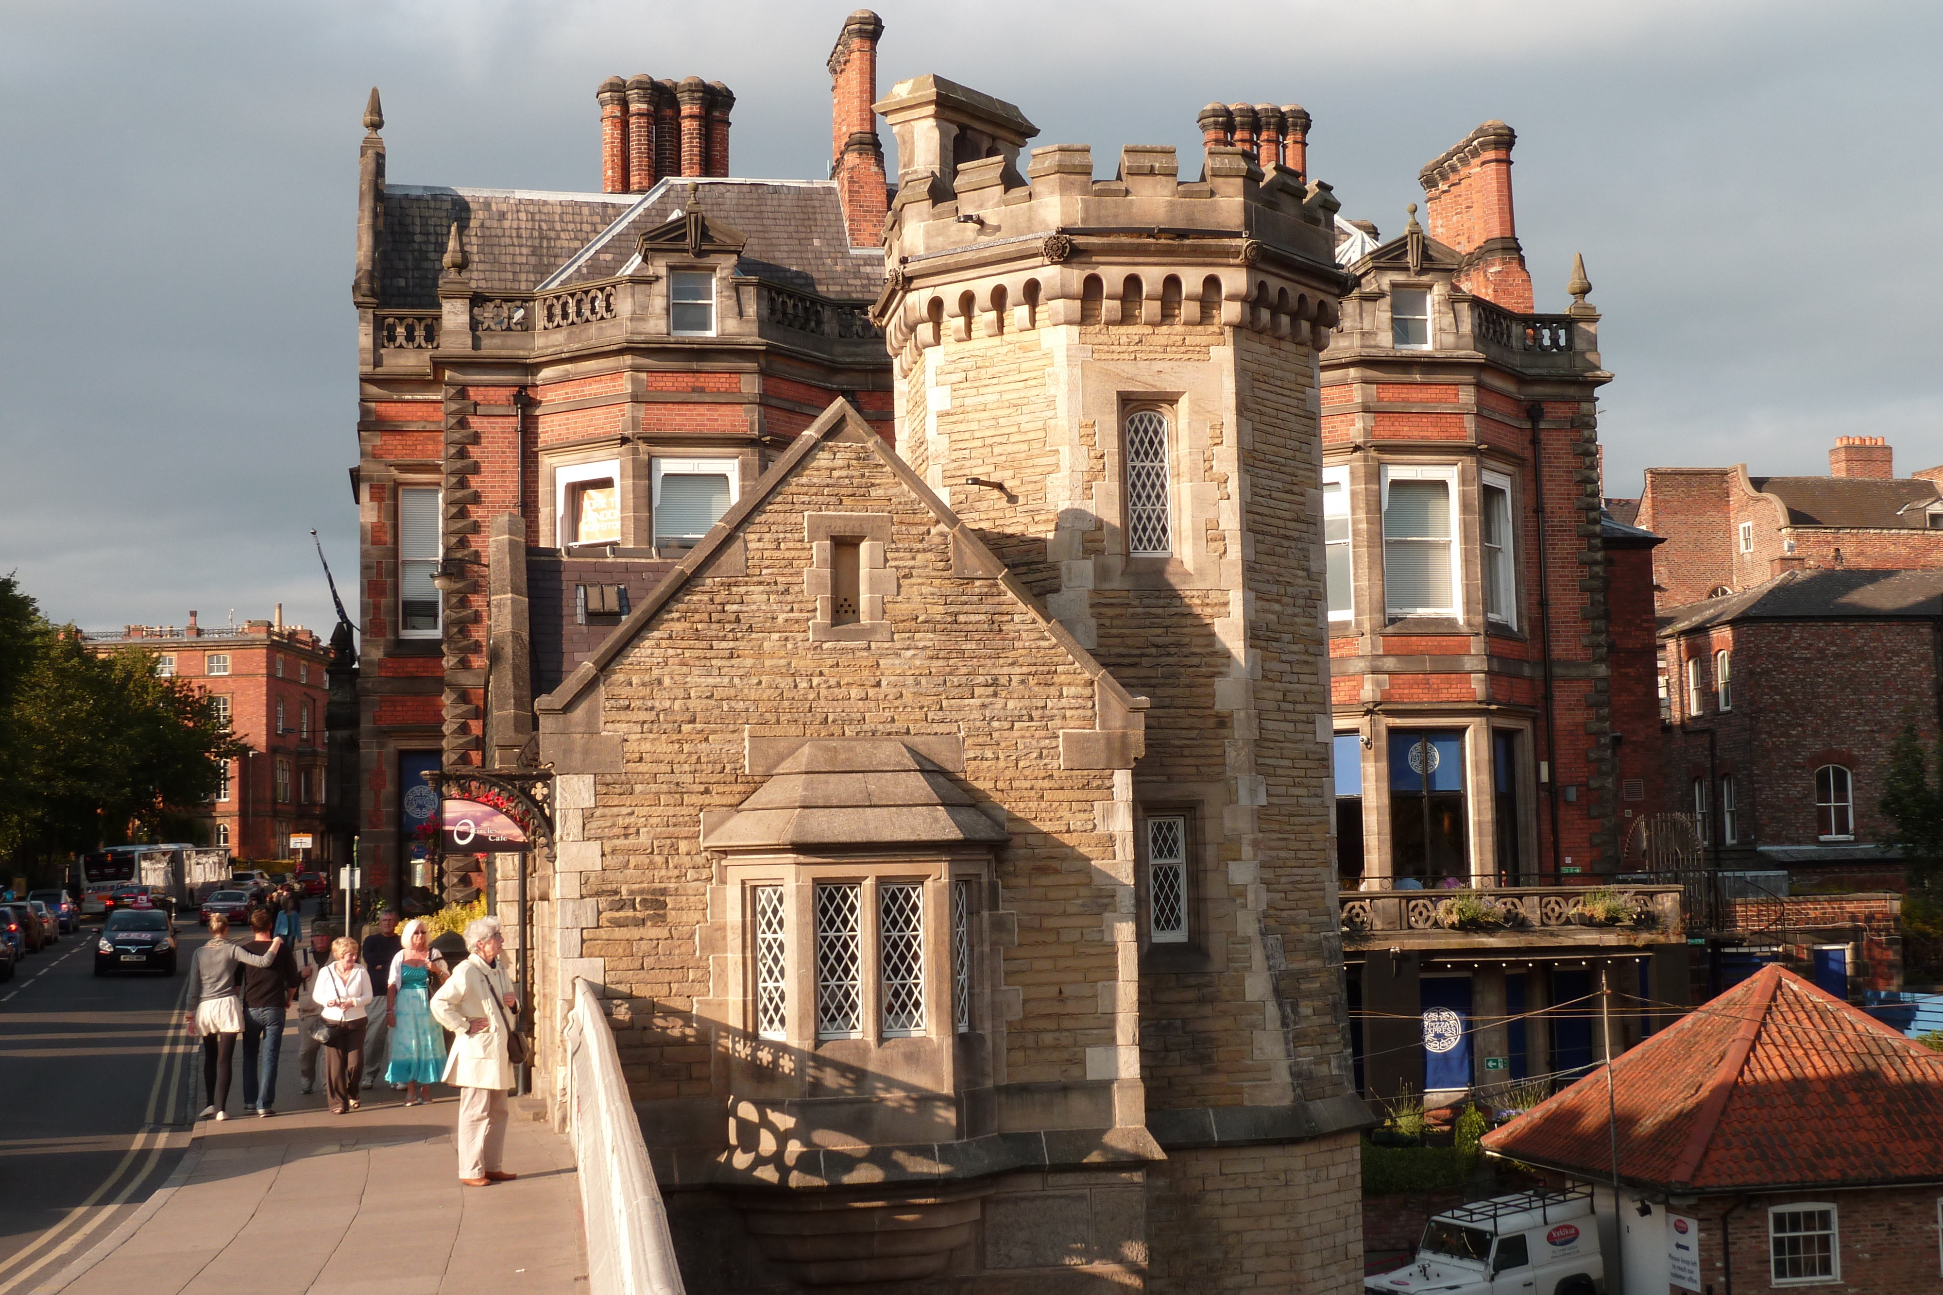
M 194 1064 L 187 1070 L 183 1087 L 200 1097 Z M 359 1111 L 330 1114 L 323 1083 L 297 1091 L 295 1029 L 284 1033 L 280 1114 L 239 1116 L 241 1087 L 239 1074 L 229 1120 L 192 1124 L 153 1194 L 19 1295 L 585 1293 L 573 1155 L 530 1105 L 515 1101 L 507 1128 L 505 1167 L 519 1179 L 468 1188 L 453 1149 L 455 1089 L 404 1107 L 379 1085 Z

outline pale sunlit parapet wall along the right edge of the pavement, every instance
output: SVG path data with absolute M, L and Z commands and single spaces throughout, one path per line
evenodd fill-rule
M 573 980 L 567 1013 L 567 1138 L 581 1180 L 589 1295 L 684 1295 L 668 1212 L 600 996 Z

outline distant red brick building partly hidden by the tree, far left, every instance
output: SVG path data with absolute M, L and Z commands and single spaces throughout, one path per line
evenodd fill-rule
M 223 782 L 204 806 L 183 810 L 202 821 L 204 845 L 233 858 L 328 858 L 324 815 L 324 703 L 328 648 L 303 625 L 286 625 L 284 608 L 266 621 L 239 625 L 124 625 L 89 633 L 95 650 L 138 648 L 155 672 L 194 680 L 229 716 L 249 753 L 227 761 Z M 309 833 L 309 850 L 290 837 Z

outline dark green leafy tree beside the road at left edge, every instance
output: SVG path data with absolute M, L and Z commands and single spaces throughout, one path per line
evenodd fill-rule
M 0 577 L 0 854 L 16 868 L 157 831 L 245 749 L 202 689 L 136 648 L 97 654 Z

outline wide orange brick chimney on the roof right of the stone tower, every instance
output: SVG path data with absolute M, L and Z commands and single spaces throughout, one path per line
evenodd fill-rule
M 1531 272 L 1512 219 L 1512 146 L 1517 132 L 1484 122 L 1416 173 L 1424 186 L 1424 233 L 1463 254 L 1459 287 L 1506 311 L 1529 315 Z

